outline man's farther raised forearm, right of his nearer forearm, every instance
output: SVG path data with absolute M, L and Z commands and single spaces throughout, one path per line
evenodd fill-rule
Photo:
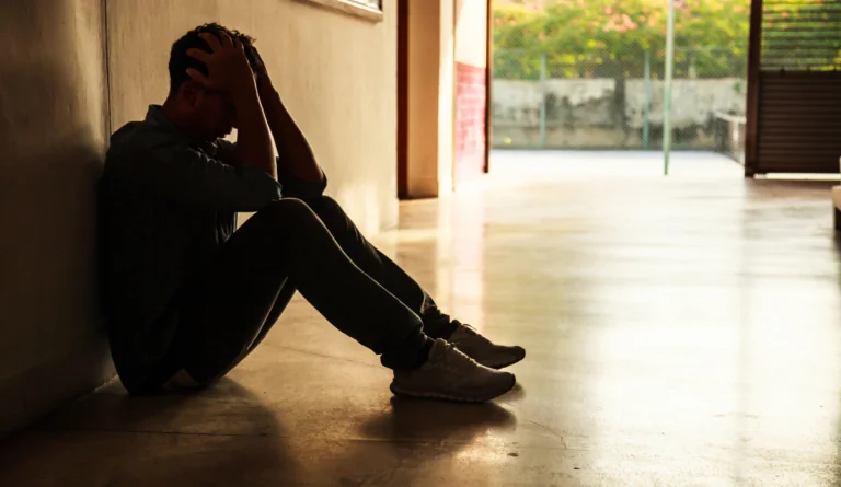
M 315 161 L 312 148 L 284 106 L 267 74 L 258 73 L 257 89 L 279 154 L 280 179 L 293 177 L 308 183 L 323 182 L 324 172 Z

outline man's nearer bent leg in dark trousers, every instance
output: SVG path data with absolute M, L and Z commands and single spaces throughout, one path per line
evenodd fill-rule
M 265 336 L 296 288 L 385 367 L 416 367 L 431 345 L 420 318 L 360 270 L 306 204 L 283 199 L 234 232 L 188 289 L 178 340 L 187 373 L 199 383 L 226 374 Z

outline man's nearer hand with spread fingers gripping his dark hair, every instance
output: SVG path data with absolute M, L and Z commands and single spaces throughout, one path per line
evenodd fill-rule
M 210 53 L 201 49 L 188 49 L 191 56 L 207 66 L 208 76 L 194 68 L 187 69 L 187 74 L 208 90 L 228 93 L 237 96 L 247 90 L 254 90 L 254 77 L 245 57 L 242 43 L 232 40 L 226 33 L 218 38 L 210 33 L 200 34 L 210 46 Z

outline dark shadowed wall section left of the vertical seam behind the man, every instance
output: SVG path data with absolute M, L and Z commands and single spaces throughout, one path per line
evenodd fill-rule
M 0 2 L 0 437 L 112 374 L 94 293 L 100 0 Z

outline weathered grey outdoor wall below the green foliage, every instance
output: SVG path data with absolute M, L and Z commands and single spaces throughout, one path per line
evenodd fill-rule
M 494 147 L 539 147 L 545 102 L 545 143 L 552 148 L 635 149 L 643 144 L 645 82 L 642 79 L 494 80 Z M 649 140 L 663 137 L 664 82 L 650 82 Z M 675 80 L 671 124 L 675 143 L 715 147 L 715 114 L 745 113 L 745 82 L 737 78 Z

